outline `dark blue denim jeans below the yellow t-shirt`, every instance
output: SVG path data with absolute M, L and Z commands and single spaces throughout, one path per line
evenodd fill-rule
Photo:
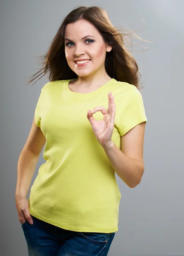
M 31 215 L 32 216 L 32 215 Z M 64 230 L 32 216 L 22 224 L 29 256 L 106 256 L 115 233 Z

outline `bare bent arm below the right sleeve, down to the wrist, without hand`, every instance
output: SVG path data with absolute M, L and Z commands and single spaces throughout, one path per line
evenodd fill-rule
M 103 145 L 113 169 L 130 188 L 141 182 L 144 173 L 144 131 L 142 122 L 121 136 L 121 150 L 113 142 Z

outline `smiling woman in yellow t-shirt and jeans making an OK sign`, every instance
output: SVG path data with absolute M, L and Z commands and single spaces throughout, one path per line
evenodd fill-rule
M 130 188 L 141 181 L 147 118 L 123 39 L 103 9 L 80 6 L 44 56 L 50 81 L 17 164 L 15 199 L 30 256 L 106 256 L 118 231 L 115 172 Z M 46 163 L 27 200 L 45 143 Z

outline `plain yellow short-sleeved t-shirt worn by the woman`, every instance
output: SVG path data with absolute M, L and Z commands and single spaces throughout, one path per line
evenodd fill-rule
M 132 84 L 112 79 L 91 93 L 69 90 L 69 80 L 41 89 L 35 123 L 46 137 L 43 158 L 29 196 L 30 213 L 49 224 L 78 232 L 118 231 L 121 193 L 104 149 L 87 119 L 88 109 L 108 107 L 114 95 L 116 112 L 112 141 L 147 122 L 141 93 Z M 103 119 L 97 112 L 95 119 Z

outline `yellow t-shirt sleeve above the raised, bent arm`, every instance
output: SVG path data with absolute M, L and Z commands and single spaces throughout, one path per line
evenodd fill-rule
M 147 123 L 142 95 L 136 87 L 128 92 L 123 101 L 124 104 L 120 108 L 117 121 L 117 128 L 121 136 L 141 122 Z

